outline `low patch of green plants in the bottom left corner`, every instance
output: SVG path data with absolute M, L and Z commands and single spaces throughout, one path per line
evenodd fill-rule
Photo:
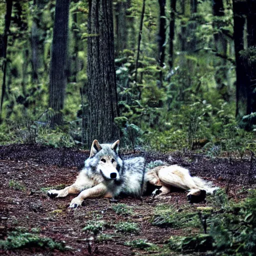
M 0 240 L 0 248 L 5 250 L 31 247 L 66 250 L 64 242 L 57 242 L 49 237 L 42 237 L 28 232 L 12 231 L 8 233 L 5 240 Z

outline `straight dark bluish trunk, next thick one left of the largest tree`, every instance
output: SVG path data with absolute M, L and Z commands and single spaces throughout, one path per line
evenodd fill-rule
M 63 123 L 61 110 L 64 106 L 68 39 L 69 0 L 56 0 L 53 39 L 49 75 L 49 107 L 54 110 L 50 117 L 51 127 Z

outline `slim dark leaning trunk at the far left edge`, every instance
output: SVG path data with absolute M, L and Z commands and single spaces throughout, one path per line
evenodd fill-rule
M 3 78 L 2 78 L 2 89 L 1 89 L 1 100 L 0 100 L 0 115 L 2 113 L 2 104 L 6 89 L 6 70 L 7 70 L 7 43 L 8 43 L 8 33 L 11 20 L 11 10 L 12 10 L 12 0 L 6 0 L 6 13 L 5 13 L 5 24 L 4 33 L 2 37 L 2 57 L 3 57 Z M 0 118 L 1 119 L 1 118 Z

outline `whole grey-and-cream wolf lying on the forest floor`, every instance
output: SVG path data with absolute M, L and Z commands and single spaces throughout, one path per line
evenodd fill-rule
M 143 157 L 122 160 L 118 155 L 119 142 L 99 144 L 93 140 L 89 158 L 75 182 L 61 190 L 49 190 L 48 196 L 64 197 L 79 193 L 69 205 L 76 208 L 85 198 L 111 198 L 121 193 L 139 196 L 146 193 L 150 184 L 155 186 L 153 193 L 156 196 L 169 193 L 171 187 L 190 190 L 187 196 L 193 202 L 204 200 L 206 193 L 214 191 L 210 182 L 191 177 L 187 169 L 178 165 L 168 166 L 162 162 L 161 166 L 148 169 Z

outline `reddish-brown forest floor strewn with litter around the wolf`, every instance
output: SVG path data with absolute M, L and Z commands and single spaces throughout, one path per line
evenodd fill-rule
M 210 180 L 214 185 L 227 190 L 228 197 L 241 200 L 246 197 L 246 189 L 255 186 L 255 160 L 235 160 L 228 158 L 211 159 L 202 154 L 145 154 L 125 153 L 123 157 L 145 155 L 147 161 L 162 159 L 170 164 L 180 164 L 188 168 L 192 175 Z M 190 204 L 184 191 L 172 192 L 154 199 L 141 198 L 87 199 L 75 210 L 68 208 L 74 196 L 51 199 L 46 195 L 50 187 L 71 184 L 88 156 L 88 151 L 51 148 L 41 145 L 0 146 L 0 239 L 6 239 L 13 230 L 26 230 L 41 237 L 65 241 L 69 248 L 65 251 L 39 247 L 1 250 L 3 255 L 181 255 L 177 252 L 161 252 L 170 236 L 191 235 L 201 232 L 196 228 L 160 227 L 151 220 L 159 205 L 171 205 L 174 211 L 183 209 L 198 211 L 198 206 L 210 206 L 212 200 Z M 117 214 L 114 205 L 127 205 L 126 212 Z M 124 207 L 124 211 L 125 211 Z M 107 222 L 102 231 L 104 236 L 92 241 L 83 231 L 89 220 Z M 137 232 L 118 231 L 118 224 L 132 222 Z M 116 225 L 117 224 L 117 225 Z M 156 245 L 145 250 L 127 245 L 132 240 L 147 240 Z M 182 254 L 184 255 L 184 254 Z M 188 254 L 187 254 L 188 255 Z M 203 255 L 199 252 L 189 255 Z

